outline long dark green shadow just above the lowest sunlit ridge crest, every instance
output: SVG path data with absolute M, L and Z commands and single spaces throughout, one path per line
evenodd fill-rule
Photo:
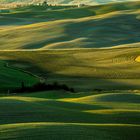
M 76 122 L 76 123 L 127 123 L 139 124 L 139 112 L 122 112 L 115 114 L 97 114 L 84 112 L 85 109 L 104 109 L 98 105 L 65 103 L 56 101 L 18 101 L 17 106 L 9 110 L 7 106 L 17 103 L 3 101 L 5 111 L 0 112 L 0 124 L 26 122 Z M 29 107 L 30 109 L 27 109 Z M 21 109 L 20 109 L 21 108 Z

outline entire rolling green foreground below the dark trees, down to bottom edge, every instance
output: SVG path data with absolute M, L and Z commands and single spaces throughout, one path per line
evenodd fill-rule
M 130 94 L 135 100 L 131 101 Z M 116 93 L 125 97 L 123 103 L 97 99 L 104 94 L 87 95 L 42 92 L 2 97 L 0 139 L 139 139 L 138 93 Z M 115 95 L 108 93 L 107 96 Z M 85 102 L 83 98 L 88 100 Z

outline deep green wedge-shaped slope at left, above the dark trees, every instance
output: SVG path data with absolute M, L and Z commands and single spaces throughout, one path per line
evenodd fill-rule
M 27 73 L 7 67 L 6 62 L 0 61 L 0 90 L 20 87 L 22 81 L 27 85 L 32 85 L 37 80 Z

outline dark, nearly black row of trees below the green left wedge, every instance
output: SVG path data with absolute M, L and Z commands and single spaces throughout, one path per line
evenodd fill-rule
M 49 90 L 65 90 L 75 92 L 74 88 L 68 87 L 66 84 L 59 84 L 54 82 L 53 84 L 36 83 L 33 86 L 25 86 L 24 82 L 21 82 L 21 87 L 13 89 L 12 93 L 24 93 L 24 92 L 38 92 L 38 91 L 49 91 Z

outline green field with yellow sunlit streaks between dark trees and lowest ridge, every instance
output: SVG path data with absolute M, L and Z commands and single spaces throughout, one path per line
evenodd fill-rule
M 69 98 L 68 93 L 68 98 L 66 96 L 62 97 L 63 92 L 58 93 L 62 94 L 59 99 L 47 98 L 47 92 L 43 93 L 44 97 L 42 98 L 40 98 L 40 93 L 34 94 L 35 97 L 33 97 L 33 95 L 30 96 L 30 94 L 1 97 L 0 104 L 2 108 L 0 111 L 0 123 L 83 122 L 100 124 L 139 124 L 140 105 L 139 102 L 137 102 L 134 93 L 130 93 L 134 94 L 132 95 L 132 98 L 135 98 L 135 101 L 133 100 L 133 102 L 130 102 L 129 94 L 124 94 L 126 101 L 124 100 L 123 102 L 93 100 L 93 97 L 96 97 L 96 95 L 89 96 L 88 100 L 85 101 L 82 100 L 82 97 L 76 97 L 74 94 L 73 98 Z M 113 93 L 110 93 L 108 96 L 111 97 L 113 96 L 112 94 Z M 83 96 L 86 96 L 86 93 Z M 139 97 L 139 95 L 137 96 Z M 10 108 L 12 108 L 12 110 Z

